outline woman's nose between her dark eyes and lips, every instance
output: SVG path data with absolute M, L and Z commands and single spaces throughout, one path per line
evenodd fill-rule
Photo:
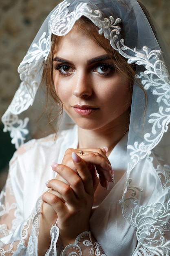
M 75 97 L 90 97 L 93 93 L 92 80 L 84 71 L 77 71 L 73 79 L 73 95 Z

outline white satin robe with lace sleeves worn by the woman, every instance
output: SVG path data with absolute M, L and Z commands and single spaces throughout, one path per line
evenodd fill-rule
M 157 198 L 160 198 L 160 194 L 163 204 L 168 200 L 165 184 L 170 182 L 169 167 L 166 165 L 165 168 L 168 171 L 165 175 L 163 171 L 158 174 L 158 168 L 155 168 L 153 164 L 154 161 L 158 162 L 158 160 L 154 155 L 148 156 L 139 162 L 132 173 L 132 187 L 126 193 L 127 195 L 129 193 L 130 196 L 126 195 L 125 202 L 127 204 L 124 204 L 124 215 L 126 216 L 123 216 L 120 200 L 127 183 L 127 137 L 128 135 L 125 135 L 119 141 L 108 157 L 115 172 L 116 182 L 115 186 L 112 185 L 113 188 L 110 188 L 110 193 L 103 202 L 93 210 L 90 218 L 90 230 L 107 256 L 163 255 L 157 254 L 158 250 L 161 252 L 162 248 L 160 241 L 155 242 L 154 239 L 149 241 L 149 234 L 145 233 L 146 230 L 148 230 L 147 232 L 163 232 L 164 230 L 164 234 L 161 237 L 164 239 L 165 246 L 170 249 L 170 244 L 166 242 L 170 240 L 170 222 L 169 226 L 164 223 L 164 226 L 162 224 L 162 226 L 157 225 L 161 227 L 157 228 L 157 230 L 152 230 L 152 222 L 159 221 L 156 218 L 156 210 L 153 212 L 155 208 L 151 207 L 152 202 L 157 202 Z M 34 239 L 32 243 L 27 232 L 28 226 L 33 221 L 33 217 L 30 216 L 35 217 L 36 214 L 38 216 L 38 211 L 35 210 L 40 210 L 39 204 L 41 204 L 41 200 L 38 200 L 38 198 L 46 191 L 46 181 L 56 176 L 56 173 L 51 168 L 51 163 L 61 163 L 66 149 L 77 148 L 77 145 L 77 126 L 74 126 L 73 129 L 60 132 L 56 140 L 55 135 L 49 135 L 43 139 L 33 139 L 14 153 L 10 161 L 6 190 L 2 191 L 0 195 L 0 216 L 2 216 L 0 219 L 0 248 L 3 248 L 0 249 L 0 253 L 2 253 L 0 255 L 10 255 L 7 254 L 9 251 L 15 252 L 14 255 L 38 255 L 36 251 L 37 240 L 34 239 L 38 236 L 38 229 L 32 229 L 30 238 Z M 121 174 L 120 179 L 119 174 Z M 160 176 L 164 177 L 164 188 Z M 138 184 L 139 188 L 133 187 L 133 184 Z M 160 193 L 160 189 L 162 193 Z M 134 207 L 136 198 L 141 207 Z M 152 214 L 149 213 L 148 205 L 150 205 Z M 161 208 L 159 209 L 161 210 Z M 164 215 L 170 215 L 168 211 L 169 208 L 166 209 Z M 142 218 L 143 223 L 141 225 Z M 167 220 L 169 220 L 168 217 Z M 144 222 L 148 227 L 145 227 Z M 38 227 L 38 224 L 35 224 L 34 221 L 34 227 L 36 225 Z M 29 249 L 24 245 L 26 239 L 29 239 Z M 157 236 L 155 235 L 156 239 Z M 159 245 L 157 246 L 158 249 L 155 249 L 155 243 Z M 34 245 L 33 248 L 30 245 Z M 58 247 L 60 246 L 58 245 Z M 150 248 L 152 251 L 149 250 Z M 56 254 L 47 252 L 46 255 L 60 255 L 59 251 L 60 249 L 57 248 Z M 20 254 L 21 252 L 22 254 Z M 97 254 L 95 253 L 95 255 Z

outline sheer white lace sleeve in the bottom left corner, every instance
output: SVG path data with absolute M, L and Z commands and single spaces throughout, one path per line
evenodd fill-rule
M 41 198 L 38 199 L 29 218 L 23 220 L 12 190 L 10 176 L 8 177 L 6 187 L 0 194 L 0 255 L 12 255 L 15 252 L 22 255 L 38 255 L 36 252 L 40 207 Z

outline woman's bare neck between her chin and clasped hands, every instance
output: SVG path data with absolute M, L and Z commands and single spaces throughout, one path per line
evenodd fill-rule
M 129 118 L 124 120 L 124 125 L 118 120 L 96 130 L 84 130 L 78 127 L 79 148 L 104 148 L 108 147 L 108 153 L 113 150 L 120 139 L 128 132 Z

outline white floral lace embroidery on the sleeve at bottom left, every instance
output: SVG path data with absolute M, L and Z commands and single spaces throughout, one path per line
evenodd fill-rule
M 3 191 L 2 191 L 3 193 Z M 2 194 L 1 193 L 1 194 Z M 0 225 L 0 236 L 5 237 L 15 229 L 20 229 L 20 239 L 14 242 L 11 242 L 9 245 L 5 245 L 2 241 L 0 241 L 1 254 L 0 255 L 8 255 L 14 254 L 15 250 L 17 249 L 18 253 L 22 255 L 28 256 L 38 256 L 38 229 L 39 229 L 39 216 L 41 214 L 42 200 L 41 198 L 38 199 L 34 212 L 29 216 L 29 218 L 22 224 L 22 220 L 20 220 L 20 216 L 18 216 L 18 207 L 15 202 L 11 204 L 9 207 L 9 203 L 6 202 L 5 206 L 2 204 L 1 208 L 5 209 L 6 213 L 10 213 L 11 210 L 15 209 L 13 220 L 13 227 L 9 230 L 6 224 Z M 1 211 L 0 215 L 4 215 L 4 210 Z M 18 226 L 19 225 L 19 226 Z M 30 234 L 31 230 L 31 234 Z M 19 230 L 18 230 L 19 231 Z M 2 238 L 3 239 L 3 238 Z M 27 247 L 26 247 L 27 245 Z M 26 253 L 26 254 L 25 254 Z

